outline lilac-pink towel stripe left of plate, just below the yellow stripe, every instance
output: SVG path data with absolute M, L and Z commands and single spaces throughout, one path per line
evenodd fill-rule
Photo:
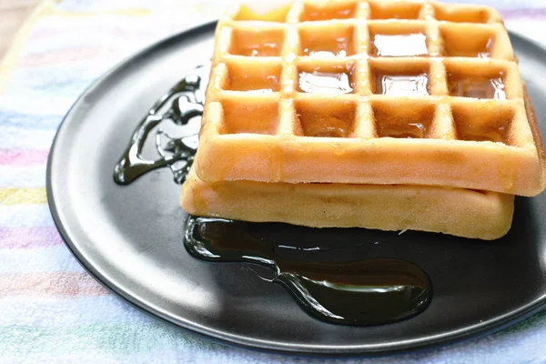
M 45 248 L 63 244 L 55 227 L 0 227 L 0 248 Z

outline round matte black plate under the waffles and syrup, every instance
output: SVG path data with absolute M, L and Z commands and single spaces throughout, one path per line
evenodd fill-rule
M 178 207 L 180 187 L 170 170 L 157 170 L 128 187 L 117 186 L 112 173 L 136 123 L 157 97 L 208 59 L 214 28 L 208 24 L 172 36 L 117 66 L 81 96 L 59 128 L 49 157 L 49 204 L 68 247 L 107 288 L 158 318 L 213 338 L 315 354 L 422 348 L 499 329 L 544 306 L 544 194 L 517 198 L 511 232 L 493 242 L 324 230 L 339 239 L 344 234 L 358 239 L 365 257 L 408 259 L 429 273 L 430 307 L 395 324 L 324 323 L 243 264 L 188 256 L 182 244 L 187 215 Z M 520 36 L 511 39 L 546 135 L 541 63 L 546 51 Z

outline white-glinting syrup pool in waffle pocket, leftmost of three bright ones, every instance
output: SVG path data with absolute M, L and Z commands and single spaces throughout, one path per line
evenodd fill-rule
M 342 95 L 353 92 L 346 73 L 300 72 L 298 91 L 307 94 Z

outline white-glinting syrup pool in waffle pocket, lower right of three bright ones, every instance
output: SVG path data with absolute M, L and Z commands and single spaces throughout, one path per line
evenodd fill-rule
M 428 96 L 427 74 L 414 76 L 380 75 L 376 77 L 376 94 L 389 96 Z

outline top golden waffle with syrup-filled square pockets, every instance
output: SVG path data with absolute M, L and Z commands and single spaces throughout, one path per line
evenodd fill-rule
M 197 174 L 539 194 L 501 15 L 430 1 L 242 6 L 217 26 Z

